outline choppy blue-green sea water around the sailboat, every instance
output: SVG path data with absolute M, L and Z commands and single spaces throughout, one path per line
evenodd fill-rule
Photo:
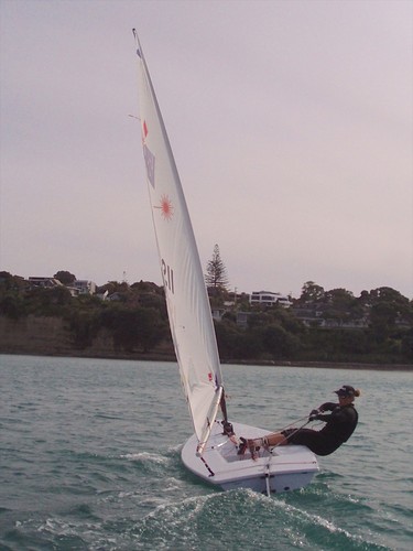
M 175 364 L 0 356 L 0 549 L 413 549 L 413 372 L 224 375 L 232 420 L 278 430 L 349 383 L 359 425 L 305 489 L 224 493 L 181 464 Z

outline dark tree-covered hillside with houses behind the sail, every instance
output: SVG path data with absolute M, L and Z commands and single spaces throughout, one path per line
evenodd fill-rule
M 73 296 L 65 284 L 0 272 L 0 353 L 174 359 L 163 288 L 112 281 L 97 291 Z M 413 301 L 394 289 L 355 296 L 307 282 L 289 309 L 252 306 L 224 285 L 209 296 L 222 361 L 413 365 Z

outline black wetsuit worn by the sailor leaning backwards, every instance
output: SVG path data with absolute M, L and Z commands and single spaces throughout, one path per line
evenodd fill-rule
M 289 444 L 305 445 L 317 455 L 329 455 L 351 436 L 357 426 L 358 413 L 352 403 L 341 407 L 338 403 L 327 402 L 319 409 L 323 412 L 332 412 L 327 415 L 323 413 L 316 415 L 315 419 L 326 422 L 320 431 L 289 429 L 283 431 L 283 434 L 287 437 Z

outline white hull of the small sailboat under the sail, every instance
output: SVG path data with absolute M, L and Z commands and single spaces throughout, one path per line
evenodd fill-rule
M 232 423 L 236 439 L 259 437 L 270 431 L 241 423 Z M 235 440 L 235 439 L 232 439 Z M 318 472 L 315 455 L 305 446 L 278 446 L 272 452 L 261 449 L 257 461 L 247 450 L 238 455 L 238 447 L 216 421 L 203 457 L 196 455 L 198 440 L 194 434 L 182 450 L 184 465 L 204 480 L 225 490 L 250 488 L 267 495 L 298 489 Z

